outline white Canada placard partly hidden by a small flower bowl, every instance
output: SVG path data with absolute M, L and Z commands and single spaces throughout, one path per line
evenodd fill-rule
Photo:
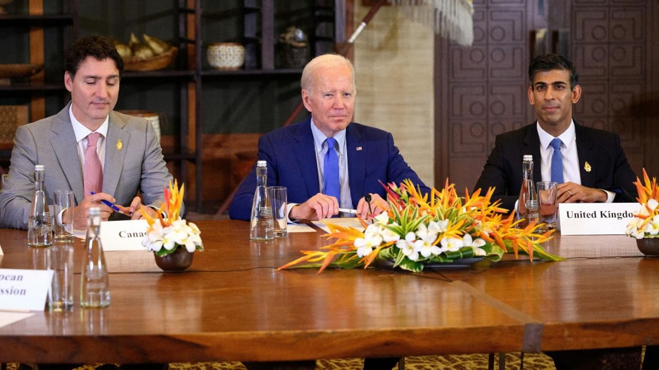
M 142 239 L 149 224 L 146 220 L 104 221 L 101 243 L 104 251 L 146 251 Z

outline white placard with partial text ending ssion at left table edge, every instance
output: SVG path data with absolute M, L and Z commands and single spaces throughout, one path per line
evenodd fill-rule
M 53 270 L 0 269 L 0 309 L 43 311 Z

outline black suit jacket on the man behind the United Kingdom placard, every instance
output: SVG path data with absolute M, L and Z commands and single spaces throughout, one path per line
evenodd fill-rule
M 577 155 L 581 184 L 588 188 L 610 190 L 616 193 L 614 201 L 636 201 L 636 188 L 632 184 L 636 175 L 631 170 L 620 138 L 613 132 L 589 128 L 575 123 Z M 540 172 L 540 138 L 536 123 L 496 136 L 494 149 L 488 157 L 476 189 L 487 190 L 496 186 L 493 199 L 501 198 L 502 206 L 515 207 L 522 183 L 522 157 L 533 155 L 533 180 L 542 181 Z M 591 171 L 585 170 L 588 162 Z

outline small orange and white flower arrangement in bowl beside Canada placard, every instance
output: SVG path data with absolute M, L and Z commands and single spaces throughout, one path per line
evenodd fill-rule
M 159 266 L 161 260 L 158 257 L 166 257 L 173 255 L 173 253 L 180 254 L 186 251 L 189 257 L 179 257 L 179 259 L 185 260 L 184 263 L 189 259 L 188 265 L 182 268 L 186 269 L 192 263 L 192 253 L 204 250 L 201 232 L 197 225 L 181 219 L 180 212 L 184 192 L 185 184 L 181 184 L 179 189 L 176 181 L 174 185 L 169 182 L 169 188 L 165 188 L 165 202 L 156 212 L 156 217 L 151 217 L 143 209 L 140 209 L 140 213 L 149 225 L 146 236 L 142 239 L 142 245 L 146 247 L 146 250 L 154 251 Z

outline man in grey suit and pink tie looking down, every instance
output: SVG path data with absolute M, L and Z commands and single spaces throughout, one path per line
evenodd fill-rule
M 34 165 L 45 165 L 49 204 L 54 190 L 74 192 L 77 229 L 86 228 L 90 207 L 101 207 L 103 220 L 113 215 L 101 200 L 116 203 L 132 219 L 141 217 L 140 208 L 155 215 L 152 207 L 163 201 L 172 176 L 151 124 L 112 111 L 123 72 L 112 41 L 102 36 L 76 41 L 65 69 L 71 103 L 16 130 L 9 177 L 0 190 L 0 227 L 27 228 Z

